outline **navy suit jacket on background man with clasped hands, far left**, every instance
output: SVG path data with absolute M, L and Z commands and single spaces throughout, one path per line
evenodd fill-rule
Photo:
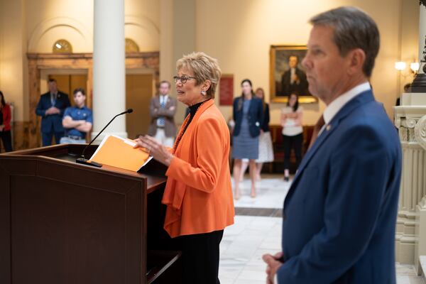
M 38 101 L 37 108 L 35 109 L 35 114 L 42 117 L 41 132 L 50 133 L 65 131 L 62 126 L 62 116 L 64 115 L 65 109 L 70 107 L 70 105 L 68 95 L 58 91 L 58 97 L 54 107 L 60 109 L 60 114 L 51 114 L 46 116 L 45 111 L 52 107 L 52 103 L 50 102 L 50 92 L 42 94 Z

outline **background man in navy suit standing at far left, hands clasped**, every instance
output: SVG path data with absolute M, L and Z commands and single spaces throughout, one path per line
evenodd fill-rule
M 59 144 L 65 131 L 62 126 L 62 116 L 65 109 L 71 105 L 68 95 L 58 91 L 55 79 L 50 79 L 48 84 L 49 92 L 41 95 L 35 109 L 35 114 L 41 116 L 43 146 L 52 145 L 53 135 L 55 135 L 55 142 Z

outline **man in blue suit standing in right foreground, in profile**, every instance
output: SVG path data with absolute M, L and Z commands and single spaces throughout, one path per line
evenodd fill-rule
M 302 64 L 327 107 L 285 198 L 283 251 L 263 256 L 267 283 L 395 283 L 401 151 L 368 83 L 378 28 L 353 7 L 310 23 Z

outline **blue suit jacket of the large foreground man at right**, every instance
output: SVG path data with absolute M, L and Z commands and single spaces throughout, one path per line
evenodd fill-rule
M 306 153 L 283 209 L 278 283 L 395 283 L 400 141 L 371 91 Z

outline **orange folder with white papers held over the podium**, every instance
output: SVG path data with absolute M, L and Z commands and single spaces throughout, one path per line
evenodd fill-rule
M 137 172 L 153 157 L 147 153 L 145 148 L 133 148 L 135 145 L 136 142 L 131 139 L 107 135 L 90 161 Z

